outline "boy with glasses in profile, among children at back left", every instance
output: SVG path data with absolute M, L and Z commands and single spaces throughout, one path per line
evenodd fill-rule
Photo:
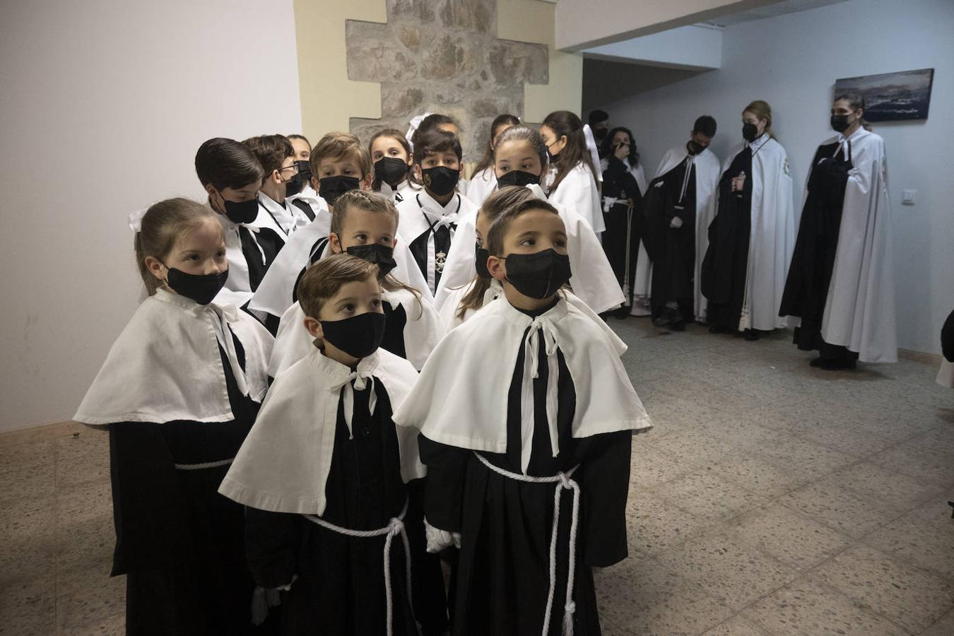
M 295 161 L 295 148 L 288 138 L 283 134 L 262 134 L 242 143 L 255 153 L 265 171 L 259 190 L 259 208 L 262 212 L 272 217 L 285 236 L 314 219 L 314 212 L 306 204 L 304 206 L 308 214 L 287 200 L 301 193 L 304 185 Z

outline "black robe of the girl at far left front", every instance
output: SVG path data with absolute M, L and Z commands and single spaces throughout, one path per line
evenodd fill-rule
M 233 341 L 244 369 L 244 350 Z M 270 624 L 252 626 L 242 506 L 218 494 L 229 466 L 176 469 L 234 458 L 259 411 L 239 393 L 220 347 L 219 355 L 234 421 L 110 425 L 113 576 L 127 575 L 131 636 L 272 633 Z

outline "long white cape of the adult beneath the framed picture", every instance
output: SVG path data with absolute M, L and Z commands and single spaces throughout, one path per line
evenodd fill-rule
M 897 362 L 891 206 L 884 140 L 852 134 L 851 160 L 821 338 L 857 352 L 862 362 Z M 844 137 L 826 143 L 840 141 Z

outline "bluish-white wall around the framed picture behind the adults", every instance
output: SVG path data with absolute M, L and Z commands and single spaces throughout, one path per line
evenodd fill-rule
M 716 117 L 713 148 L 724 158 L 741 140 L 742 108 L 765 99 L 788 151 L 800 211 L 808 164 L 834 134 L 828 112 L 835 79 L 934 68 L 928 120 L 876 124 L 875 132 L 887 147 L 899 346 L 938 353 L 941 325 L 954 306 L 952 28 L 950 0 L 852 0 L 742 23 L 723 32 L 721 69 L 611 103 L 591 103 L 584 95 L 584 110 L 604 108 L 612 124 L 631 127 L 653 173 L 666 149 L 686 140 L 699 114 Z M 918 191 L 917 205 L 901 205 L 902 189 Z

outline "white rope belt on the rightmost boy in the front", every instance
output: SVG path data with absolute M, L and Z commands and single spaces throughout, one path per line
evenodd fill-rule
M 579 468 L 579 464 L 573 466 L 567 472 L 557 473 L 553 477 L 530 477 L 520 473 L 511 473 L 498 466 L 487 462 L 487 459 L 480 453 L 474 452 L 477 459 L 487 468 L 503 475 L 516 482 L 526 483 L 555 483 L 556 490 L 553 494 L 553 528 L 550 532 L 550 593 L 547 595 L 547 611 L 543 617 L 543 636 L 547 636 L 550 631 L 550 614 L 553 610 L 553 593 L 556 590 L 556 534 L 560 526 L 560 495 L 563 490 L 573 491 L 573 516 L 570 521 L 570 547 L 568 553 L 570 556 L 570 569 L 567 574 L 567 601 L 563 612 L 563 634 L 572 636 L 573 634 L 573 612 L 576 611 L 576 604 L 573 603 L 573 579 L 576 575 L 576 526 L 580 519 L 580 484 L 570 479 L 572 474 Z

